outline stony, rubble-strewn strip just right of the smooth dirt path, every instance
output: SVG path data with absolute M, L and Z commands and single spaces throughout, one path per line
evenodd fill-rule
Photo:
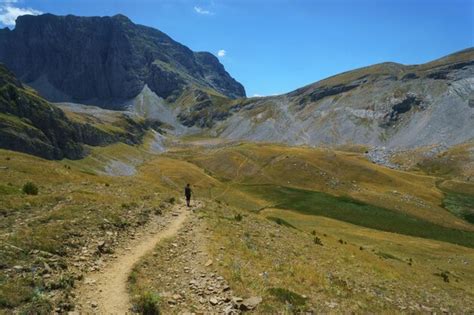
M 225 247 L 208 250 L 212 230 L 191 215 L 176 236 L 161 242 L 138 266 L 142 288 L 156 288 L 164 314 L 240 314 L 256 310 L 259 296 L 239 296 L 217 267 Z

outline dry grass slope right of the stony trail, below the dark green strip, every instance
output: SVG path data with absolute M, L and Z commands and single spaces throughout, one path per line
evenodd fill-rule
M 275 287 L 308 296 L 306 307 L 318 312 L 413 311 L 417 303 L 463 312 L 474 306 L 474 273 L 464 263 L 472 262 L 472 249 L 275 209 L 247 214 L 240 222 L 226 219 L 236 211 L 207 209 L 209 251 L 238 294 L 264 297 L 262 312 L 287 307 L 269 294 Z M 283 218 L 299 230 L 265 216 Z M 323 246 L 314 243 L 313 230 Z M 451 282 L 434 275 L 440 270 L 449 271 Z M 337 303 L 334 309 L 331 302 Z

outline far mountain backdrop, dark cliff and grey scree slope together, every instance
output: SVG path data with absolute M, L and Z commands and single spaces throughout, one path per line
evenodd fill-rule
M 113 17 L 22 16 L 0 61 L 52 102 L 135 112 L 174 135 L 291 145 L 452 146 L 474 138 L 474 49 L 386 62 L 245 98 L 210 53 Z

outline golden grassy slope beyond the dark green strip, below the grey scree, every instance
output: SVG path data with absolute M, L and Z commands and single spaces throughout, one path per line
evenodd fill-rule
M 446 227 L 473 230 L 440 206 L 443 192 L 436 177 L 387 169 L 355 152 L 244 144 L 213 154 L 194 153 L 188 159 L 232 184 L 276 184 L 346 195 Z M 268 206 L 255 203 L 256 209 Z

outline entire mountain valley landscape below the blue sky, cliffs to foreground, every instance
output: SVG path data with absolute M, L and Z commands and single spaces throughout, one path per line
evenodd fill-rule
M 0 314 L 474 312 L 474 48 L 247 97 L 122 14 L 15 23 Z

